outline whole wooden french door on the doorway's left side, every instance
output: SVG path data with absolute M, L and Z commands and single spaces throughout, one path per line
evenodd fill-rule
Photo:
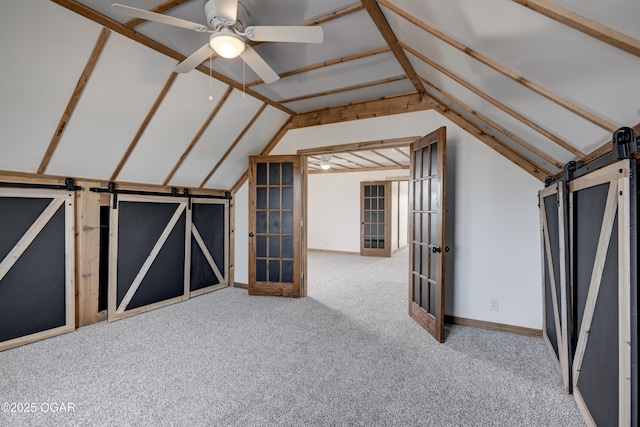
M 249 158 L 249 295 L 302 297 L 299 156 Z

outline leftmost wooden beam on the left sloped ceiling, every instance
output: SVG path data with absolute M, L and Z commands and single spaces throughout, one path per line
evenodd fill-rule
M 71 94 L 71 99 L 69 99 L 69 102 L 67 103 L 67 108 L 65 108 L 64 113 L 62 113 L 62 117 L 60 118 L 60 121 L 58 122 L 58 126 L 56 127 L 56 130 L 53 133 L 53 137 L 49 142 L 49 146 L 47 147 L 47 151 L 44 153 L 44 157 L 40 162 L 40 166 L 38 167 L 37 173 L 43 174 L 47 170 L 47 166 L 49 166 L 49 162 L 53 157 L 53 153 L 56 151 L 56 148 L 58 148 L 58 144 L 62 139 L 64 130 L 67 128 L 67 124 L 69 123 L 69 120 L 71 120 L 71 115 L 73 114 L 76 106 L 78 105 L 78 102 L 80 101 L 82 92 L 84 91 L 84 88 L 87 86 L 87 81 L 89 80 L 89 77 L 91 77 L 91 73 L 93 73 L 93 70 L 96 67 L 98 58 L 100 58 L 100 55 L 102 54 L 102 50 L 104 49 L 104 46 L 107 43 L 107 39 L 109 38 L 110 34 L 111 34 L 111 31 L 107 30 L 106 28 L 103 28 L 102 31 L 100 32 L 100 35 L 98 36 L 98 40 L 96 41 L 96 44 L 93 47 L 93 51 L 89 56 L 89 60 L 87 61 L 87 64 L 84 66 L 84 70 L 82 71 L 82 74 L 80 74 L 78 83 L 76 83 L 76 87 Z

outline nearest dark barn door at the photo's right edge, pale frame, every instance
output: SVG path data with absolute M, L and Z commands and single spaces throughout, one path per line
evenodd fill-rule
M 631 342 L 636 338 L 631 338 L 630 319 L 637 310 L 630 277 L 635 234 L 630 227 L 631 167 L 623 160 L 569 184 L 573 391 L 587 423 L 598 426 L 637 425 L 631 403 Z M 637 283 L 633 286 L 637 289 Z

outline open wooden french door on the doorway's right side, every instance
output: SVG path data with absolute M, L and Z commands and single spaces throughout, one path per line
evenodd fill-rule
M 444 342 L 446 129 L 411 144 L 409 315 Z

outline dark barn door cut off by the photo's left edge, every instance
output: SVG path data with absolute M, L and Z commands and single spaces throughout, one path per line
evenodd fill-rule
M 0 190 L 0 350 L 75 329 L 74 197 Z

